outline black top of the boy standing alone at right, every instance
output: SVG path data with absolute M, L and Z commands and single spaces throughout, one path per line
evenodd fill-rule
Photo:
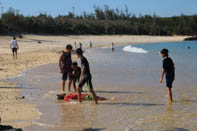
M 163 60 L 163 69 L 165 70 L 166 75 L 174 74 L 174 62 L 170 57 Z

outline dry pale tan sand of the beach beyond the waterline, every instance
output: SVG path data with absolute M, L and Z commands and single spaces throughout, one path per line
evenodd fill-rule
M 26 69 L 41 64 L 58 62 L 58 52 L 64 49 L 66 44 L 74 42 L 83 43 L 83 47 L 88 47 L 92 41 L 93 47 L 115 45 L 171 42 L 182 41 L 184 36 L 156 37 L 156 36 L 42 36 L 25 35 L 23 39 L 18 39 L 19 54 L 18 59 L 13 60 L 8 36 L 0 36 L 0 80 L 20 74 Z M 38 41 L 41 41 L 39 44 Z M 29 104 L 24 99 L 18 99 L 22 89 L 9 83 L 0 82 L 0 117 L 3 124 L 10 124 L 14 127 L 25 127 L 32 123 L 28 122 L 39 117 L 36 105 Z

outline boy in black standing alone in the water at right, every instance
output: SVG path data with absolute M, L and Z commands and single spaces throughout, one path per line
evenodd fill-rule
M 166 89 L 168 92 L 168 99 L 170 102 L 173 102 L 173 97 L 172 97 L 172 84 L 175 79 L 175 67 L 174 67 L 174 62 L 173 60 L 168 57 L 168 49 L 162 49 L 161 50 L 161 55 L 163 57 L 163 70 L 161 73 L 161 79 L 160 83 L 163 82 L 163 77 L 165 75 L 166 77 Z

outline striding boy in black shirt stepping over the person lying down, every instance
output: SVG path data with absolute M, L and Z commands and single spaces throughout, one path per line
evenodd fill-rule
M 84 86 L 85 83 L 87 83 L 90 93 L 92 94 L 94 101 L 97 104 L 98 103 L 97 96 L 92 86 L 92 76 L 90 73 L 89 63 L 87 59 L 83 56 L 83 51 L 81 48 L 78 48 L 76 53 L 77 53 L 78 58 L 81 59 L 81 76 L 79 80 L 79 86 L 77 88 L 78 100 L 80 103 L 82 102 L 81 101 L 81 88 Z

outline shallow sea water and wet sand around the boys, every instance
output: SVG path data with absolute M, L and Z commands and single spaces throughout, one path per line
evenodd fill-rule
M 190 46 L 191 49 L 187 49 Z M 93 84 L 98 96 L 112 98 L 93 102 L 57 101 L 61 76 L 57 64 L 43 65 L 11 79 L 25 87 L 30 102 L 42 115 L 27 131 L 144 130 L 195 131 L 197 128 L 197 42 L 135 45 L 148 53 L 132 53 L 117 47 L 87 50 Z M 165 83 L 160 84 L 162 59 L 158 52 L 170 50 L 176 64 L 173 85 L 175 102 L 167 104 Z M 84 88 L 87 91 L 87 88 Z

